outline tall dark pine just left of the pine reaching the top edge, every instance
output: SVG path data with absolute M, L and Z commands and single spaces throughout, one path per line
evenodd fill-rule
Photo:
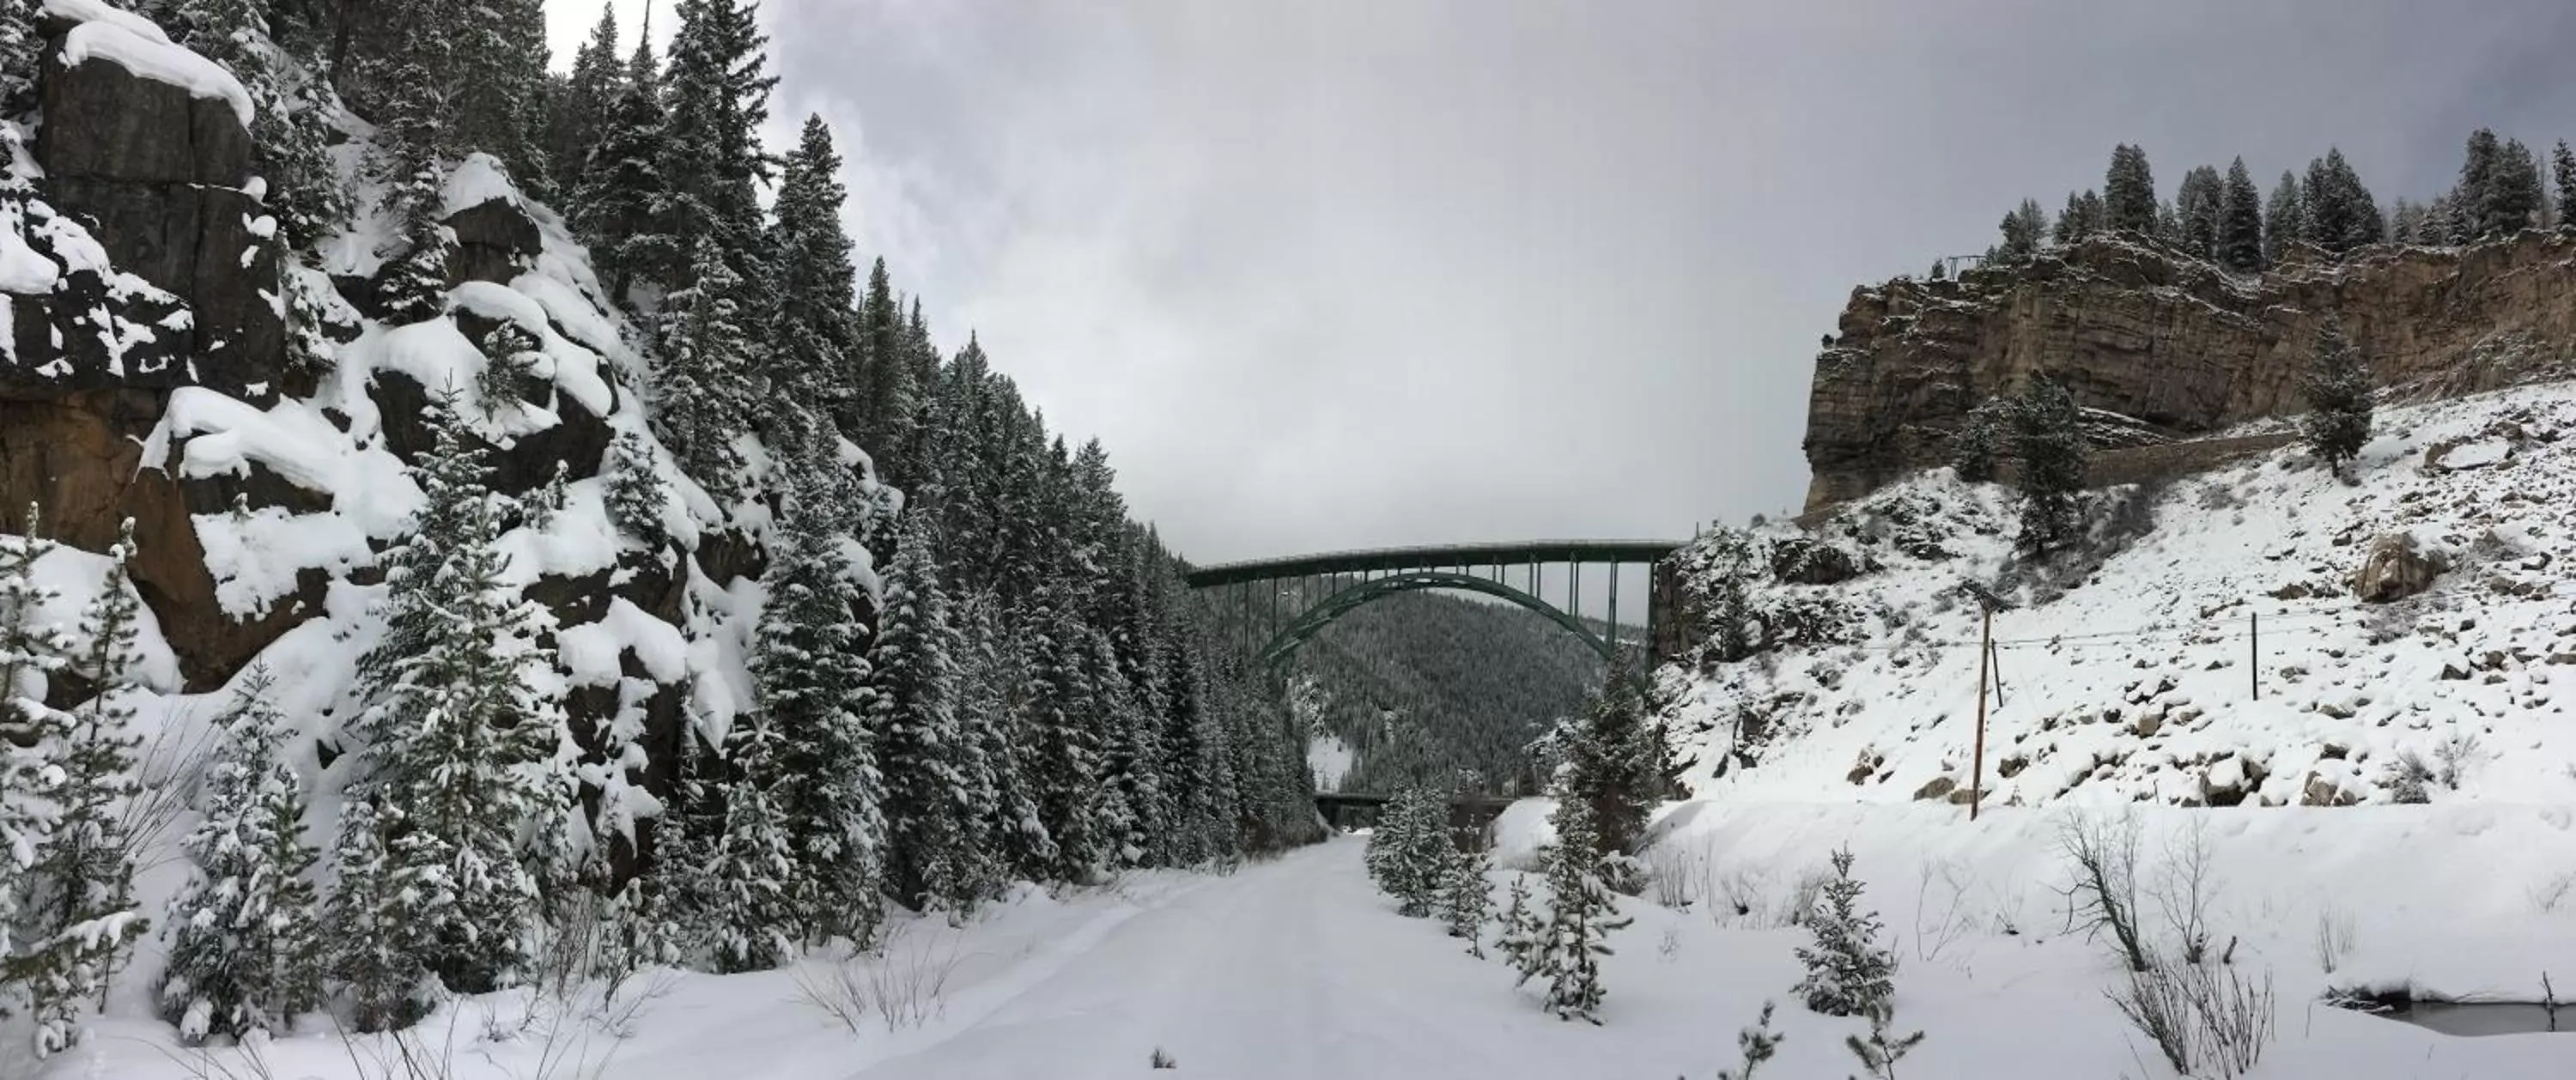
M 675 198 L 662 173 L 667 142 L 662 75 L 652 41 L 639 36 L 600 137 L 582 160 L 582 186 L 572 193 L 572 222 L 611 302 L 634 302 L 636 284 L 670 286 L 685 271 L 683 235 L 667 229 Z

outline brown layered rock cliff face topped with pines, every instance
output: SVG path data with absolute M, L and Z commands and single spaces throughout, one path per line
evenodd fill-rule
M 2576 356 L 2576 242 L 2290 260 L 2259 278 L 2087 240 L 1958 281 L 1852 291 L 1808 392 L 1808 510 L 1947 464 L 1950 436 L 2032 371 L 2094 415 L 2097 446 L 2190 441 L 2303 410 L 2316 327 L 2339 317 L 2383 400 L 2561 374 Z

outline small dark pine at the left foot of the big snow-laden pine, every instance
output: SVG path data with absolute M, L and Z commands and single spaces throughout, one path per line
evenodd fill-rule
M 371 799 L 350 799 L 330 853 L 335 884 L 322 907 L 322 943 L 358 1031 L 407 1028 L 430 1010 L 430 972 L 410 949 L 410 902 L 392 882 L 384 845 L 394 825 Z

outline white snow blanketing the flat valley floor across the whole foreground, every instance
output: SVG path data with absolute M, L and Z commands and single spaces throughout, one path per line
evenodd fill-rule
M 2102 943 L 2058 931 L 2056 897 L 2043 892 L 2053 884 L 2040 866 L 2048 858 L 2045 815 L 1965 827 L 1955 817 L 1932 820 L 1922 807 L 1844 807 L 1832 815 L 1814 807 L 1695 807 L 1682 833 L 1736 856 L 1728 866 L 1759 869 L 1762 882 L 1749 889 L 1767 902 L 1785 902 L 1793 871 L 1821 866 L 1826 843 L 1852 840 L 1857 874 L 1868 882 L 1862 905 L 1886 918 L 1901 961 L 1896 1023 L 1927 1034 L 1901 1075 L 2169 1075 L 2161 1065 L 2141 1067 L 2156 1052 L 2102 998 L 2099 990 L 2117 979 Z M 1687 809 L 1677 807 L 1667 822 Z M 2313 925 L 2300 912 L 2324 889 L 2308 889 L 2300 874 L 2324 871 L 2321 884 L 2362 882 L 2372 894 L 2393 889 L 2452 912 L 2445 920 L 2360 923 L 2344 969 L 2352 977 L 2375 977 L 2375 969 L 2403 967 L 2411 956 L 2450 961 L 2452 938 L 2470 936 L 2499 943 L 2499 956 L 2509 954 L 2501 949 L 2506 941 L 2524 946 L 2519 956 L 2501 956 L 2512 964 L 2509 977 L 2494 972 L 2494 982 L 2522 990 L 2522 982 L 2537 982 L 2540 964 L 2568 959 L 2576 920 L 2517 910 L 2501 889 L 2473 889 L 2458 902 L 2445 889 L 2476 884 L 2476 858 L 2496 858 L 2514 843 L 2537 840 L 2576 856 L 2566 830 L 2548 827 L 2537 815 L 2506 815 L 2468 845 L 2439 840 L 2432 827 L 2378 833 L 2398 838 L 2398 848 L 2380 856 L 2367 843 L 2303 840 L 2324 815 L 2331 812 L 2264 815 L 2275 825 L 2213 838 L 2223 869 L 2213 915 L 2223 933 L 2239 933 L 2231 918 L 2262 920 L 2244 928 L 2236 964 L 2275 969 L 2280 992 L 2280 1034 L 2257 1077 L 2563 1075 L 2563 1041 L 2571 1036 L 2455 1039 L 2313 1005 L 2313 990 L 2326 979 L 2308 959 Z M 2208 820 L 2184 812 L 2161 817 Z M 1909 848 L 1924 835 L 1937 843 Z M 2146 851 L 2159 851 L 2154 838 Z M 2398 858 L 2434 861 L 2406 882 L 2370 876 L 2372 869 L 2385 876 Z M 1917 900 L 1924 866 L 1932 887 Z M 1504 879 L 1497 874 L 1497 892 Z M 1953 889 L 1950 882 L 1963 884 Z M 2020 910 L 2012 897 L 2020 897 Z M 886 959 L 858 961 L 853 972 L 863 979 L 868 972 L 945 972 L 943 1000 L 917 1026 L 889 1031 L 871 1013 L 850 1031 L 801 1003 L 799 979 L 835 969 L 832 956 L 817 954 L 786 972 L 652 974 L 644 982 L 659 995 L 639 1005 L 618 1028 L 623 1034 L 590 1016 L 595 990 L 569 1008 L 528 992 L 466 998 L 443 1005 L 420 1031 L 433 1046 L 453 1041 L 459 1080 L 533 1075 L 549 1052 L 580 1057 L 580 1067 L 567 1072 L 603 1070 L 634 1080 L 1084 1080 L 1154 1075 L 1146 1057 L 1157 1049 L 1177 1062 L 1180 1075 L 1229 1080 L 1705 1080 L 1734 1062 L 1734 1031 L 1775 1000 L 1775 1026 L 1788 1041 L 1765 1075 L 1857 1072 L 1842 1036 L 1865 1031 L 1862 1021 L 1806 1013 L 1788 995 L 1801 974 L 1793 949 L 1806 943 L 1803 931 L 1736 920 L 1723 905 L 1674 910 L 1620 900 L 1620 910 L 1636 915 L 1636 925 L 1610 936 L 1615 954 L 1602 959 L 1610 995 L 1600 1028 L 1540 1013 L 1535 990 L 1515 990 L 1499 961 L 1466 956 L 1432 920 L 1394 915 L 1360 871 L 1360 840 L 1342 838 L 1231 876 L 1151 871 L 1061 897 L 1023 887 L 963 928 L 935 918 L 902 920 Z M 2002 915 L 2017 918 L 2017 936 L 1996 931 Z M 2478 915 L 2501 925 L 2478 925 Z M 1942 931 L 1958 923 L 1971 928 Z M 268 1041 L 263 1057 L 276 1075 L 350 1077 L 353 1057 L 371 1059 L 368 1052 L 384 1046 L 381 1036 L 358 1039 L 358 1046 L 345 1046 L 325 1023 L 312 1023 Z M 240 1067 L 237 1049 L 214 1049 L 211 1057 Z M 85 1046 L 49 1062 L 39 1080 L 178 1080 L 198 1075 L 191 1072 L 196 1065 L 191 1052 L 175 1049 L 167 1026 L 108 1018 Z

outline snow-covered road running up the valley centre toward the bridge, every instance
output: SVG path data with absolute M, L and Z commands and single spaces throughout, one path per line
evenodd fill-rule
M 1499 1003 L 1510 977 L 1391 915 L 1358 858 L 1342 840 L 1172 894 L 981 1021 L 855 1077 L 1136 1077 L 1157 1046 L 1193 1077 L 1522 1075 L 1492 1028 L 1546 1018 L 1486 1008 L 1461 1023 L 1461 1000 Z

